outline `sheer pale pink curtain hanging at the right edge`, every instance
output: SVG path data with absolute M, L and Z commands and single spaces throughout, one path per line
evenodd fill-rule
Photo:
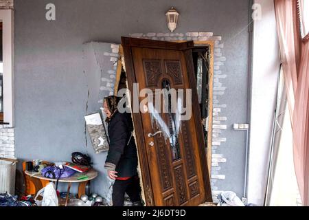
M 309 43 L 301 39 L 297 0 L 275 0 L 277 34 L 293 130 L 293 157 L 304 206 L 309 205 Z

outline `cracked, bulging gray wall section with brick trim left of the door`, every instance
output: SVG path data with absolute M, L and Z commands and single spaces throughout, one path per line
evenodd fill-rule
M 86 114 L 98 112 L 103 104 L 103 97 L 113 95 L 116 70 L 117 56 L 119 45 L 112 43 L 91 42 L 83 45 L 83 69 L 84 76 L 87 80 L 88 98 L 86 104 Z M 89 142 L 89 135 L 85 128 L 86 146 L 92 147 Z M 91 151 L 91 150 L 90 150 Z M 111 186 L 112 182 L 106 175 L 104 169 L 104 161 L 107 153 L 93 154 L 91 151 L 93 162 L 102 164 L 95 168 L 104 173 L 100 179 L 93 184 L 93 191 L 100 192 L 101 195 L 111 201 Z

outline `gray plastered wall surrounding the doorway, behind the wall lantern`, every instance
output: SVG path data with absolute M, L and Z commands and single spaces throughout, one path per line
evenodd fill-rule
M 55 3 L 56 21 L 46 21 L 45 5 Z M 227 87 L 220 104 L 227 104 L 227 142 L 216 153 L 227 163 L 216 182 L 218 190 L 233 190 L 240 197 L 244 176 L 244 133 L 232 124 L 247 121 L 248 1 L 246 0 L 15 0 L 14 12 L 14 117 L 16 157 L 70 160 L 71 152 L 89 153 L 100 170 L 105 153 L 95 155 L 87 137 L 84 115 L 88 100 L 87 74 L 83 72 L 82 44 L 89 41 L 120 43 L 130 33 L 169 32 L 165 12 L 174 6 L 181 14 L 175 32 L 209 31 L 222 36 L 220 67 Z M 99 109 L 98 109 L 99 110 Z M 87 135 L 86 135 L 87 136 Z M 104 180 L 105 181 L 105 180 Z

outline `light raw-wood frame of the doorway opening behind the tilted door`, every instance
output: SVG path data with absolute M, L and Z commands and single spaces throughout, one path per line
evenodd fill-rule
M 183 43 L 185 41 L 172 41 L 176 43 Z M 208 131 L 207 131 L 207 168 L 209 173 L 209 178 L 211 178 L 211 154 L 212 154 L 212 118 L 213 118 L 213 93 L 214 93 L 214 41 L 193 41 L 194 46 L 209 46 L 210 49 L 210 58 L 209 58 L 209 120 L 208 120 Z M 118 85 L 120 76 L 122 74 L 122 66 L 124 58 L 124 49 L 122 45 L 119 45 L 119 60 L 117 63 L 117 72 L 116 72 L 116 80 L 114 87 L 114 94 L 117 96 Z

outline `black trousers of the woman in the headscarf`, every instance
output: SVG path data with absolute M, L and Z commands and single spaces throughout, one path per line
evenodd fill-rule
M 113 206 L 124 206 L 124 194 L 128 194 L 130 201 L 141 201 L 139 177 L 131 177 L 127 180 L 116 179 L 113 184 Z

